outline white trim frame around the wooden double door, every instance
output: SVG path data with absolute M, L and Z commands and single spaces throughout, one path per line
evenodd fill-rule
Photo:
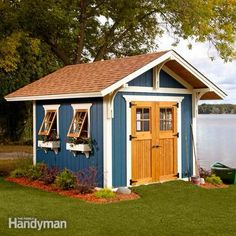
M 140 102 L 178 102 L 179 108 L 177 109 L 177 132 L 179 132 L 179 138 L 177 139 L 177 170 L 180 175 L 180 179 L 182 176 L 182 145 L 181 145 L 181 102 L 183 101 L 184 97 L 171 97 L 171 96 L 140 96 L 140 95 L 123 95 L 126 101 L 126 173 L 127 173 L 127 186 L 130 186 L 130 179 L 131 175 L 131 141 L 129 140 L 129 135 L 131 132 L 131 109 L 129 107 L 129 103 L 133 101 L 140 101 Z

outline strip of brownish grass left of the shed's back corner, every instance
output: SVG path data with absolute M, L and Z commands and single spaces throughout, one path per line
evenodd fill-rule
M 16 168 L 23 168 L 33 164 L 32 158 L 0 159 L 0 176 L 9 175 Z

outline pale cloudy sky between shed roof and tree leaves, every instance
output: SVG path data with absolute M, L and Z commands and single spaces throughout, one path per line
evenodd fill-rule
M 205 103 L 236 104 L 236 60 L 225 63 L 207 43 L 193 42 L 192 49 L 189 50 L 189 41 L 181 40 L 176 47 L 170 46 L 173 42 L 173 38 L 168 35 L 157 40 L 161 50 L 174 49 L 228 95 L 223 101 L 204 101 Z M 212 61 L 211 56 L 214 56 L 215 60 Z

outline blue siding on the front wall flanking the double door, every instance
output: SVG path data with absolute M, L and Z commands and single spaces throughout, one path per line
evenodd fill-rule
M 181 96 L 181 132 L 182 132 L 182 177 L 192 173 L 192 144 L 190 124 L 192 122 L 192 95 L 186 94 L 150 94 L 138 92 L 119 92 L 114 99 L 114 118 L 112 121 L 112 185 L 125 186 L 126 173 L 126 102 L 123 95 L 144 96 Z

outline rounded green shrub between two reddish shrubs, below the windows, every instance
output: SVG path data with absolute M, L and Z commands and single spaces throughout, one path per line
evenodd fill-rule
M 73 189 L 76 185 L 76 176 L 68 169 L 64 169 L 56 176 L 55 185 L 61 189 Z

